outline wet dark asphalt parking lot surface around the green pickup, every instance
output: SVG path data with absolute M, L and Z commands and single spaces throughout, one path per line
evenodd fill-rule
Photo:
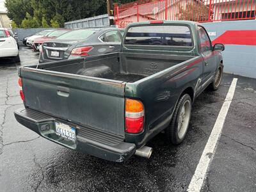
M 20 47 L 20 65 L 38 54 Z M 184 142 L 173 146 L 159 134 L 148 143 L 150 159 L 113 163 L 39 137 L 20 125 L 17 68 L 0 60 L 0 191 L 186 191 L 234 78 L 236 90 L 201 191 L 256 190 L 256 79 L 225 74 L 218 91 L 195 100 Z M 225 62 L 224 62 L 225 66 Z

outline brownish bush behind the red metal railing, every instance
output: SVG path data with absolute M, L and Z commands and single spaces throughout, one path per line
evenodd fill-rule
M 187 3 L 186 6 L 179 6 L 179 12 L 176 14 L 179 20 L 207 20 L 209 8 L 200 2 Z

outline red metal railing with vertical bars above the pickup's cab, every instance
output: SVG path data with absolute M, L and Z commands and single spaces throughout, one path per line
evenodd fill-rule
M 115 24 L 125 28 L 131 22 L 147 20 L 221 20 L 255 19 L 256 0 L 140 0 L 115 4 Z

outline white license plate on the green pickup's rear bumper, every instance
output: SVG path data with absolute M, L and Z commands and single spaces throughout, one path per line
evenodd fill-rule
M 70 125 L 55 122 L 55 132 L 58 136 L 66 138 L 71 141 L 76 141 L 76 129 Z

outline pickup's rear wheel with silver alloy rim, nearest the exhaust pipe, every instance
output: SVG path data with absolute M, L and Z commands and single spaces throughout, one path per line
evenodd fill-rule
M 174 145 L 181 143 L 186 136 L 191 116 L 191 103 L 191 98 L 188 94 L 180 97 L 174 110 L 172 121 L 165 130 L 167 140 Z

